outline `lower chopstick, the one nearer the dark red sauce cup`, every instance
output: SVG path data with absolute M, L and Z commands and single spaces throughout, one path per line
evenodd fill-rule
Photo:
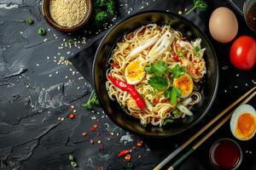
M 253 99 L 253 97 L 256 95 L 256 91 L 251 94 L 246 100 L 244 100 L 241 105 L 247 104 L 248 101 Z M 206 136 L 204 136 L 200 141 L 198 141 L 195 145 L 192 146 L 183 156 L 181 156 L 177 161 L 175 161 L 171 167 L 168 168 L 168 170 L 174 170 L 175 167 L 177 167 L 184 159 L 186 159 L 189 155 L 191 155 L 201 144 L 203 144 L 209 137 L 212 136 L 213 133 L 215 133 L 219 127 L 224 125 L 225 122 L 227 122 L 230 117 L 232 116 L 234 111 L 232 111 L 228 116 L 225 116 L 225 118 L 216 125 L 216 127 L 213 127 L 210 132 L 207 133 Z

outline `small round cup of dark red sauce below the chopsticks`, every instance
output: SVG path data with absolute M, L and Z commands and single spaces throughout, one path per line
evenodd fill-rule
M 220 170 L 235 169 L 241 161 L 241 151 L 234 141 L 221 139 L 212 144 L 210 150 L 212 165 Z

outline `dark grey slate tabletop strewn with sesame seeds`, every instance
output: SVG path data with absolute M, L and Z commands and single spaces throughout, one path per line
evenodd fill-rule
M 207 3 L 209 8 L 206 12 L 196 12 L 186 17 L 210 37 L 207 23 L 212 10 L 219 6 L 230 6 L 224 0 Z M 187 133 L 170 139 L 143 139 L 145 145 L 132 151 L 133 166 L 127 167 L 127 162 L 118 159 L 117 154 L 120 150 L 131 149 L 140 138 L 116 127 L 101 108 L 86 111 L 82 107 L 93 88 L 90 86 L 90 76 L 97 44 L 108 27 L 128 14 L 153 8 L 177 13 L 179 9 L 191 7 L 192 1 L 119 0 L 118 14 L 106 26 L 95 26 L 90 21 L 90 26 L 71 34 L 50 28 L 42 17 L 40 5 L 40 0 L 0 1 L 0 169 L 73 169 L 68 161 L 69 154 L 76 157 L 79 165 L 76 169 L 151 169 L 177 144 L 182 144 L 219 111 L 256 84 L 255 68 L 238 71 L 230 65 L 231 43 L 220 44 L 210 37 L 218 54 L 220 70 L 218 95 L 211 111 Z M 240 26 L 239 35 L 255 37 L 247 29 L 241 15 L 236 15 Z M 27 26 L 20 22 L 26 18 L 32 18 L 35 23 Z M 45 37 L 36 33 L 39 27 L 47 30 Z M 69 38 L 81 40 L 82 37 L 86 37 L 86 44 L 80 43 L 79 48 L 58 48 L 64 39 L 67 42 Z M 72 54 L 67 54 L 67 51 Z M 61 56 L 71 59 L 75 67 L 57 65 Z M 255 106 L 256 99 L 250 104 Z M 66 118 L 71 105 L 77 110 L 74 120 Z M 58 117 L 65 117 L 65 120 L 61 122 Z M 90 127 L 95 123 L 98 123 L 99 128 L 92 133 Z M 86 137 L 81 136 L 84 131 L 89 133 Z M 97 132 L 101 136 L 97 136 Z M 229 123 L 221 127 L 178 169 L 213 169 L 208 159 L 209 148 L 216 139 L 222 137 L 234 139 Z M 95 144 L 90 144 L 90 139 Z M 99 149 L 101 144 L 97 144 L 98 140 L 102 141 L 104 150 Z M 256 139 L 236 141 L 244 152 L 239 169 L 256 169 Z

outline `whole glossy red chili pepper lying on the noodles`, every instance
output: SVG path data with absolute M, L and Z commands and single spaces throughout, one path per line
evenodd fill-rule
M 108 79 L 110 80 L 110 82 L 113 83 L 115 87 L 120 88 L 121 90 L 131 94 L 131 97 L 135 99 L 137 106 L 139 108 L 141 108 L 142 110 L 145 108 L 145 101 L 143 97 L 141 96 L 141 94 L 137 92 L 137 90 L 131 84 L 117 80 L 111 76 L 108 76 Z

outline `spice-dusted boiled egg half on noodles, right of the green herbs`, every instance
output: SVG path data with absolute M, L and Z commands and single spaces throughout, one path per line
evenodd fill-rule
M 192 93 L 194 84 L 192 78 L 188 74 L 174 78 L 173 87 L 181 90 L 182 98 L 186 98 Z

